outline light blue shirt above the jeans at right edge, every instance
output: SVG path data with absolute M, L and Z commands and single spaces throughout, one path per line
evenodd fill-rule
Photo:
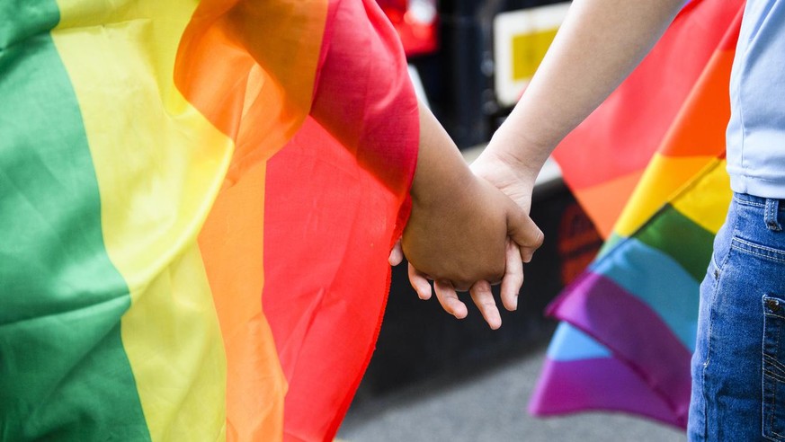
M 785 199 L 785 0 L 747 0 L 730 106 L 731 189 Z

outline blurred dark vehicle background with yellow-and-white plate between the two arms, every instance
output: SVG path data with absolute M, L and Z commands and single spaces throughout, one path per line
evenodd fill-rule
M 460 148 L 512 109 L 566 13 L 563 0 L 378 0 L 415 86 Z

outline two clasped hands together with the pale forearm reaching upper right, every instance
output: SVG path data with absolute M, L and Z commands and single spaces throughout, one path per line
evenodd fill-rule
M 502 301 L 513 310 L 523 278 L 521 260 L 530 260 L 542 243 L 527 215 L 542 165 L 646 56 L 683 4 L 572 4 L 521 100 L 471 171 L 421 106 L 414 206 L 403 238 L 409 278 L 421 298 L 431 296 L 428 279 L 433 279 L 444 309 L 461 318 L 467 311 L 456 290 L 468 288 L 486 322 L 492 328 L 501 324 L 489 282 L 501 278 Z M 402 259 L 400 251 L 390 255 L 393 264 Z

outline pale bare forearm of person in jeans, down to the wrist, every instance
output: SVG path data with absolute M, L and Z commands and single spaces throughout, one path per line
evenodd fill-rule
M 492 155 L 536 176 L 563 137 L 629 75 L 683 0 L 575 0 Z M 533 178 L 532 178 L 533 180 Z

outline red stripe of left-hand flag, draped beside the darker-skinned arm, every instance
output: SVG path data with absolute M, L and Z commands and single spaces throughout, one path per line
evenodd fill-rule
M 330 440 L 379 333 L 419 139 L 403 49 L 371 1 L 333 1 L 311 116 L 268 163 L 263 308 L 285 438 Z

